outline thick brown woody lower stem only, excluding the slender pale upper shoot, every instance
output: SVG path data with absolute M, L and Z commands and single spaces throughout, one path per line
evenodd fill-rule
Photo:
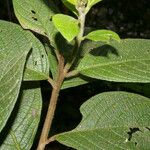
M 57 99 L 59 96 L 60 88 L 63 83 L 63 80 L 66 76 L 66 70 L 64 70 L 64 58 L 62 56 L 59 57 L 59 64 L 58 64 L 58 76 L 55 82 L 55 86 L 53 87 L 51 98 L 50 98 L 50 104 L 48 107 L 46 119 L 44 122 L 42 134 L 40 137 L 40 141 L 38 144 L 37 150 L 44 150 L 46 146 L 46 141 L 48 139 L 48 134 L 52 125 L 52 120 L 54 117 L 56 105 L 57 105 Z

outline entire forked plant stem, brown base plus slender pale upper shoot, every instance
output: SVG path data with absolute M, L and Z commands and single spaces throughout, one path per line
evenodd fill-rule
M 58 96 L 59 96 L 59 92 L 61 89 L 61 85 L 65 79 L 65 77 L 74 75 L 74 73 L 72 74 L 71 72 L 68 73 L 69 69 L 71 68 L 71 66 L 73 65 L 73 63 L 75 62 L 77 55 L 78 55 L 78 51 L 82 42 L 82 38 L 83 38 L 83 34 L 84 34 L 84 26 L 85 26 L 85 17 L 86 17 L 86 13 L 85 13 L 85 8 L 79 8 L 78 12 L 79 12 L 79 23 L 80 23 L 80 32 L 78 34 L 78 36 L 76 37 L 76 41 L 77 41 L 77 49 L 75 50 L 75 56 L 73 57 L 71 63 L 67 63 L 64 66 L 64 57 L 61 56 L 58 52 L 56 53 L 57 55 L 57 59 L 58 59 L 58 75 L 57 75 L 57 79 L 55 81 L 55 83 L 53 83 L 51 81 L 51 79 L 49 80 L 50 83 L 52 83 L 52 94 L 51 94 L 51 98 L 50 98 L 50 104 L 48 107 L 48 111 L 47 111 L 47 115 L 46 115 L 46 119 L 44 122 L 44 126 L 42 129 L 42 134 L 40 137 L 40 141 L 38 144 L 38 148 L 37 150 L 44 150 L 46 144 L 49 143 L 49 141 L 53 141 L 54 138 L 49 138 L 48 139 L 48 134 L 52 125 L 52 121 L 54 118 L 54 113 L 55 113 L 55 109 L 56 109 L 56 105 L 57 105 L 57 100 L 58 100 Z

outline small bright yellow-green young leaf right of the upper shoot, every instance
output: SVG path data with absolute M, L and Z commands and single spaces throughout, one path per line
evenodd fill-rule
M 109 42 L 111 39 L 120 41 L 118 34 L 110 30 L 96 30 L 86 35 L 85 38 L 96 42 Z

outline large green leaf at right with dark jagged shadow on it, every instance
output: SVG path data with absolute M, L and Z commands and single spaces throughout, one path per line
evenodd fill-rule
M 112 41 L 92 50 L 77 70 L 86 76 L 116 82 L 150 82 L 150 41 Z

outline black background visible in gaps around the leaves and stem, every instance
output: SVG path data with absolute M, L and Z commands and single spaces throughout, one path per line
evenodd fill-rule
M 55 0 L 62 13 L 69 12 L 60 0 Z M 15 18 L 12 1 L 0 0 L 0 19 L 12 21 Z M 150 0 L 103 0 L 95 5 L 87 15 L 86 26 L 93 29 L 110 29 L 117 32 L 121 38 L 150 38 Z M 47 82 L 41 82 L 43 94 L 43 112 L 41 123 L 44 120 L 51 88 Z M 149 84 L 123 84 L 96 80 L 92 83 L 61 91 L 52 133 L 56 134 L 75 128 L 82 116 L 79 108 L 91 96 L 104 91 L 125 90 L 140 93 L 150 97 Z M 42 126 L 39 126 L 39 131 Z M 36 147 L 40 132 L 37 133 L 33 150 Z M 51 148 L 50 148 L 51 147 Z M 54 142 L 47 146 L 48 150 L 69 150 L 71 148 Z

